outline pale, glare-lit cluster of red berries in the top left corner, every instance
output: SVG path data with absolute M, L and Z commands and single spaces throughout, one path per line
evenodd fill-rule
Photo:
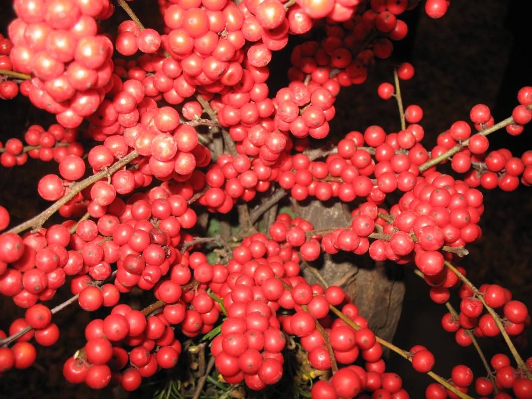
M 22 94 L 64 127 L 79 126 L 113 86 L 113 44 L 98 35 L 96 19 L 109 18 L 114 6 L 109 0 L 16 0 L 13 6 L 11 62 L 15 71 L 32 74 Z

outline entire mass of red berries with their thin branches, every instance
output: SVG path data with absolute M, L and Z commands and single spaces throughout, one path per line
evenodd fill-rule
M 302 386 L 313 399 L 409 398 L 386 370 L 388 348 L 434 379 L 428 399 L 471 398 L 473 389 L 530 399 L 532 358 L 514 344 L 530 324 L 526 305 L 501 286 L 477 288 L 455 262 L 482 236 L 478 188 L 532 184 L 532 151 L 488 152 L 487 138 L 523 132 L 532 87 L 498 123 L 488 106 L 473 106 L 470 120 L 452 123 L 429 151 L 422 107 L 403 105 L 400 81 L 414 77 L 405 62 L 377 89 L 396 99 L 400 130 L 373 125 L 315 144 L 333 136 L 340 90 L 363 84 L 392 54 L 408 34 L 399 17 L 418 3 L 161 0 L 158 31 L 118 0 L 130 19 L 103 32 L 110 0 L 14 0 L 17 18 L 0 37 L 0 97 L 20 92 L 57 124 L 0 143 L 0 164 L 54 160 L 59 168 L 39 180 L 38 194 L 52 204 L 34 218 L 11 226 L 0 206 L 0 231 L 9 228 L 0 234 L 0 293 L 26 309 L 0 330 L 0 378 L 34 364 L 32 340 L 55 344 L 53 315 L 77 303 L 110 308 L 88 323 L 86 344 L 63 368 L 68 381 L 94 389 L 136 390 L 197 345 L 201 373 L 188 397 L 212 393 L 213 368 L 232 387 L 268 389 L 293 366 L 285 356 L 294 350 L 297 367 L 311 370 Z M 427 0 L 425 11 L 440 18 L 448 3 Z M 289 83 L 269 93 L 268 65 L 290 35 L 302 39 L 287 60 Z M 453 176 L 437 170 L 446 162 Z M 277 211 L 286 196 L 343 202 L 350 221 L 314 229 Z M 239 231 L 222 220 L 219 234 L 203 236 L 203 220 L 231 212 Z M 425 346 L 405 351 L 376 336 L 353 298 L 312 263 L 340 251 L 415 265 L 431 300 L 447 306 L 443 329 L 475 346 L 485 375 L 474 379 L 459 364 L 441 377 Z M 304 268 L 320 284 L 309 284 Z M 47 306 L 65 285 L 72 297 Z M 459 311 L 449 302 L 454 290 Z M 142 310 L 119 303 L 130 292 L 156 302 Z M 498 335 L 514 365 L 504 353 L 488 363 L 481 350 L 482 339 Z

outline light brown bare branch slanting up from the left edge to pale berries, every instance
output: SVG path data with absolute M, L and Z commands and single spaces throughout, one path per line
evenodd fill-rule
M 64 204 L 69 202 L 72 198 L 74 198 L 82 189 L 87 188 L 88 186 L 95 183 L 99 179 L 102 179 L 105 176 L 110 176 L 114 172 L 126 166 L 129 162 L 134 160 L 137 156 L 139 156 L 139 153 L 136 151 L 133 151 L 129 153 L 128 155 L 124 156 L 120 161 L 115 162 L 106 171 L 98 172 L 96 174 L 93 174 L 93 176 L 90 176 L 84 180 L 74 183 L 73 185 L 70 186 L 70 191 L 66 193 L 63 197 L 61 197 L 60 200 L 57 200 L 56 202 L 54 202 L 51 206 L 49 206 L 43 212 L 39 213 L 37 216 L 21 223 L 18 226 L 13 227 L 12 229 L 9 230 L 9 232 L 19 233 L 29 228 L 35 229 L 35 228 L 43 226 L 44 222 L 46 222 L 55 212 L 57 212 L 61 206 L 63 206 Z

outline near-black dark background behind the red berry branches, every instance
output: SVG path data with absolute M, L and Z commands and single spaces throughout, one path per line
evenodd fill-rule
M 132 8 L 141 11 L 147 27 L 157 27 L 156 2 L 132 2 Z M 148 10 L 150 9 L 150 10 Z M 409 23 L 409 35 L 396 43 L 393 60 L 377 61 L 361 86 L 343 89 L 332 126 L 333 135 L 344 135 L 350 130 L 362 130 L 370 124 L 380 124 L 386 131 L 396 131 L 399 125 L 397 107 L 393 100 L 382 101 L 376 95 L 380 82 L 393 81 L 394 62 L 409 61 L 416 68 L 410 81 L 402 82 L 403 102 L 423 107 L 425 118 L 424 144 L 431 148 L 439 132 L 448 129 L 456 120 L 467 120 L 471 106 L 487 104 L 495 121 L 508 117 L 517 104 L 520 87 L 531 85 L 530 63 L 532 46 L 529 44 L 530 2 L 485 0 L 483 2 L 451 2 L 443 19 L 431 20 L 417 9 L 401 16 Z M 13 18 L 11 2 L 0 4 L 0 32 L 6 34 L 7 23 Z M 125 19 L 117 10 L 109 24 Z M 290 47 L 290 44 L 289 44 Z M 289 48 L 274 54 L 272 76 L 278 84 L 286 75 Z M 277 65 L 277 66 L 275 66 Z M 270 95 L 273 90 L 271 90 Z M 0 140 L 23 137 L 30 124 L 47 127 L 53 117 L 33 107 L 27 98 L 18 96 L 0 103 Z M 504 146 L 520 156 L 531 148 L 530 128 L 519 137 L 504 132 L 490 136 L 491 148 Z M 56 171 L 53 162 L 44 164 L 30 160 L 24 167 L 0 168 L 0 204 L 11 213 L 14 222 L 22 221 L 44 209 L 46 204 L 36 193 L 38 178 Z M 532 250 L 530 222 L 532 201 L 530 189 L 520 187 L 516 192 L 504 193 L 499 189 L 485 193 L 486 211 L 480 221 L 483 238 L 468 245 L 470 255 L 461 262 L 468 276 L 477 285 L 497 283 L 511 289 L 514 298 L 532 305 Z M 454 335 L 444 332 L 440 318 L 446 312 L 443 305 L 430 301 L 428 286 L 411 272 L 406 272 L 407 284 L 403 313 L 394 343 L 406 350 L 415 344 L 427 346 L 436 356 L 435 371 L 450 376 L 455 364 L 469 365 L 475 377 L 483 376 L 483 367 L 472 347 L 462 348 L 454 342 Z M 60 298 L 57 298 L 59 301 Z M 55 301 L 55 300 L 54 300 Z M 458 302 L 454 303 L 458 307 Z M 6 330 L 23 310 L 15 309 L 4 298 L 0 303 L 0 328 Z M 54 317 L 61 327 L 60 342 L 51 348 L 38 347 L 36 364 L 23 371 L 12 371 L 0 377 L 0 397 L 110 397 L 109 391 L 93 392 L 82 385 L 73 387 L 62 376 L 62 364 L 83 345 L 83 329 L 92 315 L 71 307 Z M 530 331 L 526 333 L 526 341 Z M 505 351 L 504 343 L 480 339 L 488 359 L 498 351 Z M 532 354 L 522 351 L 523 358 Z M 415 373 L 403 359 L 392 354 L 387 370 L 403 378 L 404 387 L 412 398 L 422 397 L 430 378 Z M 149 391 L 147 387 L 147 391 Z M 472 393 L 472 392 L 470 392 Z M 117 394 L 117 391 L 114 391 Z M 146 392 L 146 397 L 151 394 Z

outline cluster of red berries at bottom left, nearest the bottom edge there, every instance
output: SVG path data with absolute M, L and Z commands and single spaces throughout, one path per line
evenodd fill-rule
M 125 390 L 135 390 L 143 378 L 160 368 L 176 366 L 181 343 L 170 324 L 177 323 L 170 323 L 163 313 L 146 317 L 128 305 L 114 306 L 105 319 L 87 325 L 87 344 L 66 360 L 63 374 L 71 383 L 84 382 L 94 389 L 102 389 L 113 380 Z M 126 351 L 122 345 L 131 349 Z

